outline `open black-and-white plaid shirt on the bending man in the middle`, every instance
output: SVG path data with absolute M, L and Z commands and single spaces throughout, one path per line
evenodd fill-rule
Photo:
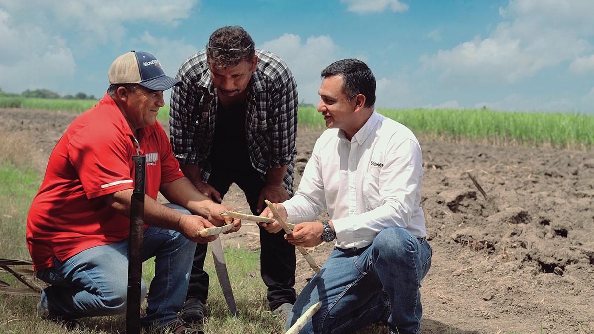
M 278 56 L 256 49 L 257 71 L 248 84 L 245 113 L 251 165 L 266 181 L 268 168 L 287 167 L 283 187 L 293 195 L 293 167 L 297 150 L 297 86 Z M 178 71 L 181 86 L 171 92 L 169 134 L 173 155 L 180 163 L 198 165 L 203 181 L 210 177 L 208 161 L 219 104 L 210 76 L 206 50 L 190 56 Z M 232 157 L 230 157 L 232 159 Z

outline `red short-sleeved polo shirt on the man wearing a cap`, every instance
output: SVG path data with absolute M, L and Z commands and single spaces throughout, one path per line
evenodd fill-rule
M 156 199 L 160 184 L 184 175 L 159 122 L 139 129 L 137 140 L 147 158 L 145 191 Z M 53 266 L 54 256 L 63 261 L 128 237 L 129 219 L 108 207 L 103 196 L 133 188 L 134 155 L 132 131 L 107 94 L 69 125 L 27 217 L 35 270 Z

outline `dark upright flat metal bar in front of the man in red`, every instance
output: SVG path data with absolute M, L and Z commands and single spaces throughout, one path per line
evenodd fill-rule
M 130 198 L 130 236 L 128 237 L 128 295 L 126 301 L 126 333 L 140 333 L 141 253 L 144 229 L 145 156 L 132 156 L 134 191 Z

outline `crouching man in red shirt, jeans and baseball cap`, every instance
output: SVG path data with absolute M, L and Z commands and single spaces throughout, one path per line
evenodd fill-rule
M 155 258 L 155 277 L 143 326 L 157 323 L 173 332 L 197 333 L 177 319 L 188 287 L 196 231 L 239 220 L 184 177 L 169 138 L 156 121 L 163 90 L 179 84 L 146 52 L 128 52 L 109 70 L 108 92 L 78 116 L 49 158 L 27 218 L 27 246 L 37 277 L 52 285 L 37 304 L 40 316 L 66 320 L 121 314 L 126 310 L 129 207 L 134 182 L 132 156 L 145 155 L 143 261 Z M 157 203 L 159 191 L 184 215 Z M 184 212 L 187 212 L 183 210 Z M 142 289 L 146 285 L 142 282 Z M 144 296 L 144 293 L 141 293 Z

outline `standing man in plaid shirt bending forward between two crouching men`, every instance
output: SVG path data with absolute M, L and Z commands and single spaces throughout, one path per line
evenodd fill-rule
M 190 56 L 177 78 L 182 84 L 171 94 L 170 140 L 184 175 L 218 202 L 235 182 L 255 215 L 265 199 L 289 199 L 299 100 L 287 65 L 255 49 L 244 29 L 229 26 L 214 31 L 206 50 Z M 295 302 L 295 247 L 283 235 L 260 228 L 261 275 L 270 309 L 286 315 Z M 188 322 L 204 318 L 206 251 L 206 245 L 197 245 L 179 314 Z

